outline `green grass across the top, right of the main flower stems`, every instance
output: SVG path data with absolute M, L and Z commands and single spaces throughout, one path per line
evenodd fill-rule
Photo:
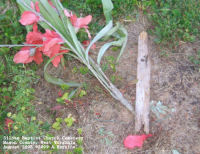
M 101 0 L 63 0 L 64 6 L 77 14 L 92 14 L 95 20 L 90 26 L 98 31 L 102 25 L 103 9 Z M 113 0 L 113 17 L 142 11 L 152 23 L 149 29 L 156 36 L 155 42 L 174 48 L 179 41 L 193 42 L 200 34 L 200 3 L 199 0 Z

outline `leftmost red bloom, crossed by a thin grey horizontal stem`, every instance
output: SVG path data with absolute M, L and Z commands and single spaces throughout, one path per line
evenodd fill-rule
M 26 36 L 26 44 L 42 44 L 43 43 L 43 34 L 38 32 L 37 25 L 33 25 L 33 32 L 29 32 Z M 15 56 L 15 63 L 27 64 L 33 60 L 40 64 L 43 62 L 42 53 L 43 47 L 23 47 Z

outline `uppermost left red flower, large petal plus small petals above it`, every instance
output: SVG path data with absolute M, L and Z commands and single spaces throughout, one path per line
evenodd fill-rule
M 40 12 L 40 8 L 38 4 L 39 4 L 38 1 L 35 2 L 35 5 L 33 2 L 31 2 L 31 8 L 33 10 L 36 10 L 36 12 Z M 37 23 L 38 21 L 39 21 L 39 17 L 32 11 L 24 11 L 21 16 L 21 19 L 19 20 L 19 22 L 24 26 L 32 25 L 34 23 Z

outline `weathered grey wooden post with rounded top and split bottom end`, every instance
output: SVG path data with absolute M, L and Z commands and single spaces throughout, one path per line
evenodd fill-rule
M 137 63 L 135 131 L 140 131 L 144 125 L 144 131 L 149 133 L 150 59 L 148 35 L 144 31 L 138 39 Z

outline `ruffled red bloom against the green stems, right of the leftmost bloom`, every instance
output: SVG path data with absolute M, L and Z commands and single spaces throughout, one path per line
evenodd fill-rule
M 68 50 L 60 50 L 60 43 L 63 43 L 62 38 L 54 31 L 51 31 L 49 29 L 46 30 L 46 33 L 44 34 L 45 41 L 44 44 L 44 50 L 43 53 L 52 58 L 58 53 L 65 53 L 68 52 Z M 63 55 L 56 56 L 51 62 L 55 67 L 58 67 L 60 63 L 60 59 L 63 57 Z

